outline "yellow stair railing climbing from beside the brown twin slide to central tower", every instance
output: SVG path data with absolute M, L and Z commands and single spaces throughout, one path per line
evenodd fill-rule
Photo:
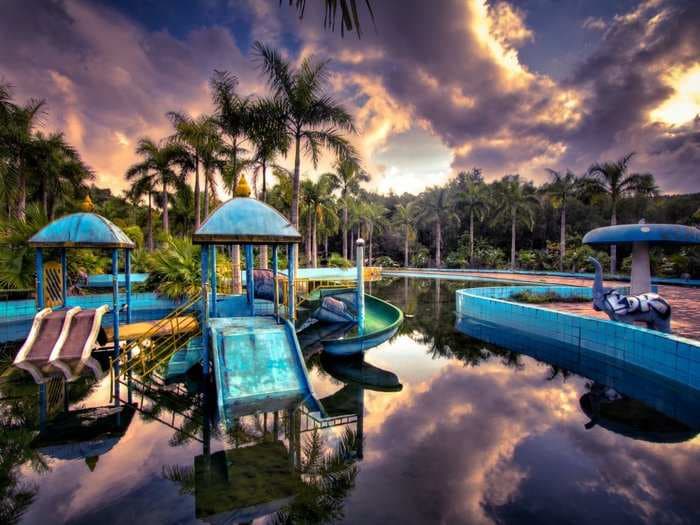
M 200 336 L 202 327 L 196 314 L 191 314 L 191 310 L 199 300 L 199 295 L 189 299 L 166 317 L 155 322 L 138 338 L 127 342 L 119 353 L 119 374 L 125 376 L 130 372 L 138 372 L 146 376 L 165 359 L 170 358 L 192 339 Z M 188 313 L 190 315 L 187 315 Z M 114 366 L 110 368 L 114 370 Z

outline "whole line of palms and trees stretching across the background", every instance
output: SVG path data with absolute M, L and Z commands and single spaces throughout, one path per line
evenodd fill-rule
M 45 101 L 18 104 L 10 87 L 1 85 L 0 265 L 14 264 L 11 271 L 0 268 L 0 282 L 30 282 L 20 277 L 31 273 L 30 253 L 17 255 L 22 241 L 47 221 L 79 210 L 86 196 L 142 245 L 137 266 L 153 270 L 156 259 L 167 265 L 163 254 L 152 255 L 170 250 L 175 271 L 173 261 L 183 252 L 197 252 L 168 239 L 188 237 L 219 204 L 218 194 L 235 194 L 243 175 L 255 198 L 299 229 L 301 263 L 314 267 L 350 264 L 355 240 L 364 237 L 369 264 L 581 271 L 592 250 L 580 239 L 594 227 L 642 217 L 686 224 L 700 218 L 697 195 L 659 196 L 653 175 L 631 170 L 631 153 L 593 163 L 579 175 L 549 169 L 548 181 L 539 186 L 517 174 L 486 182 L 482 170 L 473 168 L 419 195 L 376 194 L 363 188 L 371 174 L 349 140 L 357 133 L 353 117 L 328 93 L 329 62 L 307 57 L 294 67 L 260 42 L 253 55 L 268 93 L 243 96 L 235 75 L 214 71 L 214 111 L 171 111 L 169 135 L 140 138 L 139 161 L 127 169 L 129 189 L 121 195 L 94 185 L 94 172 L 62 133 L 41 130 Z M 324 152 L 336 159 L 333 170 L 313 173 Z M 293 161 L 292 169 L 280 164 L 285 158 Z M 227 255 L 234 286 L 240 286 L 240 253 L 232 249 Z M 628 269 L 628 254 L 621 255 L 613 247 L 599 257 L 614 273 Z M 100 271 L 98 255 L 87 259 L 76 265 Z M 259 259 L 265 267 L 266 250 Z M 657 273 L 698 273 L 692 249 L 657 250 L 653 263 Z

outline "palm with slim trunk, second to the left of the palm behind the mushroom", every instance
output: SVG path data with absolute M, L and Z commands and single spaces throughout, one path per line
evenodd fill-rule
M 495 219 L 510 221 L 510 268 L 515 269 L 515 231 L 518 222 L 532 229 L 535 222 L 534 207 L 539 204 L 531 183 L 523 182 L 520 175 L 506 175 L 498 181 L 496 191 L 502 206 Z

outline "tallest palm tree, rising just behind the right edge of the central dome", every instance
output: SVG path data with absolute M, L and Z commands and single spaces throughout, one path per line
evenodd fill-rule
M 339 159 L 356 158 L 355 149 L 342 132 L 355 132 L 352 116 L 324 93 L 328 78 L 328 62 L 306 57 L 298 69 L 292 69 L 280 53 L 255 42 L 260 67 L 268 76 L 275 102 L 282 113 L 285 133 L 294 144 L 294 175 L 290 222 L 299 226 L 301 185 L 301 147 L 318 165 L 321 148 L 335 152 Z

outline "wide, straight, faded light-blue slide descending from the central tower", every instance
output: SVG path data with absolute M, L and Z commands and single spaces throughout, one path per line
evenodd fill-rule
M 305 402 L 321 412 L 311 388 L 294 326 L 272 317 L 209 320 L 219 414 L 227 420 L 257 410 Z

